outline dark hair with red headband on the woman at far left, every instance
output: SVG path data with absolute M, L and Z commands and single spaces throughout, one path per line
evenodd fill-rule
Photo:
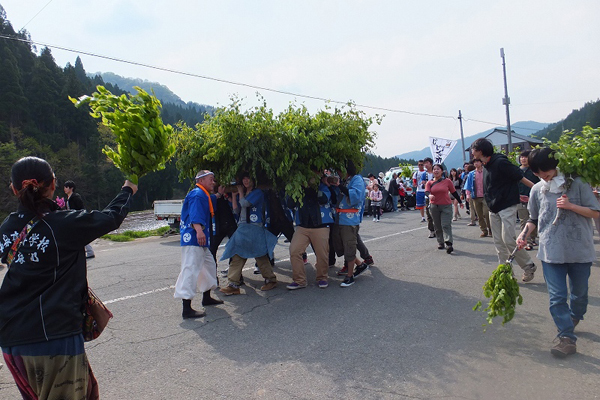
M 50 164 L 38 157 L 23 157 L 13 164 L 10 177 L 19 203 L 42 217 L 49 209 L 46 194 L 54 182 Z

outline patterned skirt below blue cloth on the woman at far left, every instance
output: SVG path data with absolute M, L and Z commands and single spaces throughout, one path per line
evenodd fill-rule
M 3 347 L 2 353 L 24 400 L 100 398 L 82 335 Z

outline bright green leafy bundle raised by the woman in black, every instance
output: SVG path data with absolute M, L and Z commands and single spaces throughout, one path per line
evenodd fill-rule
M 91 97 L 69 99 L 76 107 L 89 105 L 90 115 L 101 118 L 112 131 L 117 148 L 107 145 L 102 152 L 126 179 L 137 184 L 148 172 L 165 168 L 175 145 L 170 143 L 173 127 L 164 125 L 160 117 L 160 101 L 140 87 L 135 89 L 136 95 L 115 96 L 99 85 Z

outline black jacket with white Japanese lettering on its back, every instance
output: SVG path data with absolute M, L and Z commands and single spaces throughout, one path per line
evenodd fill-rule
M 87 296 L 84 246 L 118 228 L 129 211 L 125 187 L 103 211 L 52 210 L 23 241 L 0 287 L 0 346 L 81 333 Z M 0 226 L 2 261 L 34 213 L 19 208 Z

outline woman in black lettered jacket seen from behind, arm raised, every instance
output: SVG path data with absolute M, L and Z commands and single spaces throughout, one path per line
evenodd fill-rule
M 25 157 L 12 166 L 10 187 L 19 206 L 0 226 L 0 256 L 9 267 L 0 287 L 6 365 L 24 399 L 97 399 L 81 333 L 84 247 L 121 225 L 137 186 L 125 181 L 103 211 L 59 210 L 52 168 Z

